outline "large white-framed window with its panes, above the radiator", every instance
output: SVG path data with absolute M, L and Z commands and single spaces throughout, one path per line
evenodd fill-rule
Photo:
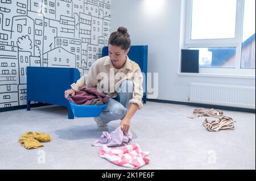
M 186 24 L 200 73 L 255 75 L 254 0 L 189 0 Z

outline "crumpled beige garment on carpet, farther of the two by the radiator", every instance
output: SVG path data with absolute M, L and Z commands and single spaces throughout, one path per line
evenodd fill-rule
M 193 111 L 193 115 L 188 116 L 188 118 L 194 119 L 196 117 L 201 117 L 201 116 L 220 118 L 223 116 L 223 112 L 220 110 L 214 110 L 214 109 L 205 110 L 204 108 L 199 108 L 199 109 L 195 109 Z

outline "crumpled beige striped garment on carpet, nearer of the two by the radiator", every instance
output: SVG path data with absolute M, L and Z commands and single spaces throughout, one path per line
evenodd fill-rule
M 208 129 L 208 131 L 219 131 L 222 129 L 234 130 L 234 121 L 231 117 L 223 116 L 218 120 L 204 120 L 204 127 Z

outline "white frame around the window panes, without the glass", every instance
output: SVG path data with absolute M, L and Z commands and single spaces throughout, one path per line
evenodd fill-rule
M 192 23 L 192 0 L 187 1 L 187 17 L 185 27 L 184 48 L 225 48 L 236 47 L 236 60 L 234 68 L 199 68 L 200 74 L 226 74 L 226 75 L 253 75 L 255 69 L 241 69 L 242 53 L 242 28 L 243 28 L 243 5 L 244 0 L 237 0 L 236 6 L 236 30 L 235 37 L 231 39 L 202 39 L 191 40 L 191 23 Z

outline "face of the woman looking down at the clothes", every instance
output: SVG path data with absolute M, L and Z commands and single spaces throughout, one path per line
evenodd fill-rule
M 117 69 L 121 69 L 125 65 L 128 52 L 129 49 L 123 50 L 121 47 L 109 44 L 109 57 L 114 67 Z

